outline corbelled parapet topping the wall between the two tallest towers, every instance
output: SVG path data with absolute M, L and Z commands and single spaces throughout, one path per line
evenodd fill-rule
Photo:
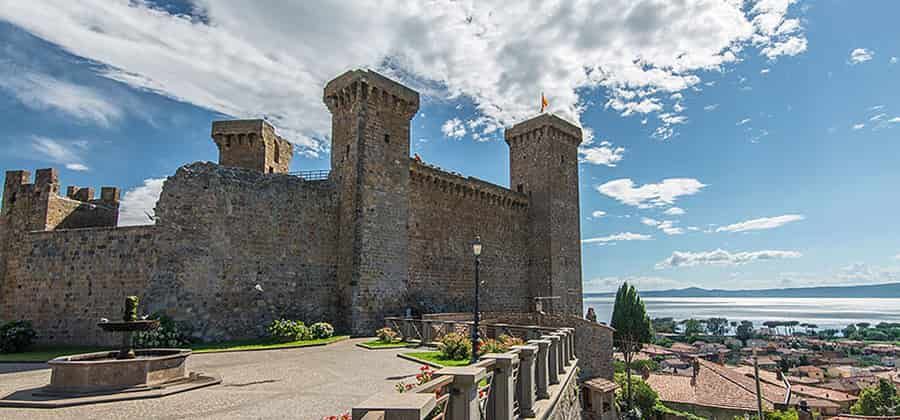
M 528 196 L 478 178 L 444 171 L 410 159 L 409 175 L 412 182 L 429 184 L 434 188 L 461 198 L 488 200 L 492 204 L 517 210 L 528 209 Z

